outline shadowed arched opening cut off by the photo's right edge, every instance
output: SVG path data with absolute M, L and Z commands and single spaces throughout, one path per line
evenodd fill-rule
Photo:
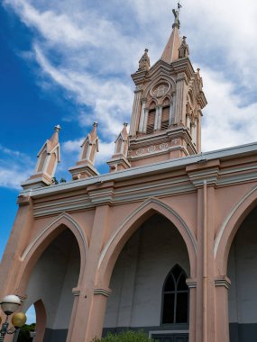
M 248 342 L 257 335 L 257 207 L 237 230 L 228 256 L 230 342 Z

